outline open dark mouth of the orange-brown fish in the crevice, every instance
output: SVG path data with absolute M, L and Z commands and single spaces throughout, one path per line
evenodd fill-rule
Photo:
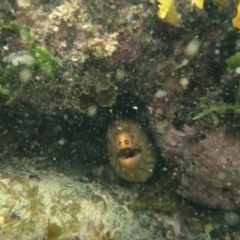
M 141 160 L 142 151 L 138 148 L 125 148 L 118 152 L 117 159 L 125 169 L 134 169 Z

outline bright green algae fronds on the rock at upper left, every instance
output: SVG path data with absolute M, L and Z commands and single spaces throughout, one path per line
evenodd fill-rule
M 36 43 L 35 39 L 29 34 L 27 29 L 14 21 L 8 21 L 9 28 L 17 30 L 30 47 L 28 51 L 29 55 L 34 59 L 34 62 L 31 66 L 25 66 L 20 64 L 18 66 L 0 66 L 1 73 L 1 85 L 0 85 L 0 94 L 6 98 L 6 105 L 11 105 L 17 99 L 19 99 L 27 90 L 32 88 L 31 81 L 21 80 L 19 74 L 22 70 L 28 69 L 31 74 L 35 74 L 39 69 L 43 73 L 50 77 L 48 83 L 43 83 L 42 86 L 32 89 L 33 91 L 47 91 L 50 86 L 52 86 L 55 81 L 53 77 L 59 70 L 59 63 L 57 59 L 45 48 L 41 47 Z

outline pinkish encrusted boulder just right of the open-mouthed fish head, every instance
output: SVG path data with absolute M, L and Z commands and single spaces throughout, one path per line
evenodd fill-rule
M 152 105 L 150 124 L 169 165 L 181 172 L 178 193 L 208 207 L 238 210 L 240 139 L 219 125 L 206 131 L 184 125 L 177 130 Z

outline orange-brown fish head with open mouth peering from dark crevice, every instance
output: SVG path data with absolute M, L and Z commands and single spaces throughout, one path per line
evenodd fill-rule
M 144 182 L 152 176 L 155 152 L 140 125 L 132 121 L 112 125 L 107 133 L 107 152 L 119 177 L 130 182 Z

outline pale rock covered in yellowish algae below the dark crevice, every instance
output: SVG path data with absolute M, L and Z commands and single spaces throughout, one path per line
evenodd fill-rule
M 127 189 L 81 185 L 53 172 L 40 175 L 42 180 L 36 182 L 3 178 L 0 174 L 2 239 L 110 240 L 134 238 L 138 232 L 144 239 L 152 238 L 147 228 L 133 218 L 131 210 L 121 204 L 121 197 L 112 197 L 113 192 L 122 194 L 123 199 L 130 196 Z M 142 221 L 149 218 L 142 217 Z

